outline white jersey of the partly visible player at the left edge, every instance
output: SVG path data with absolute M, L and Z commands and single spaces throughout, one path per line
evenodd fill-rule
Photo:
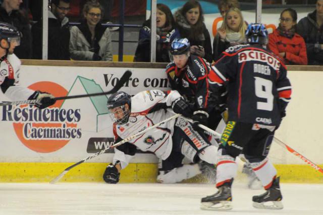
M 15 55 L 8 55 L 0 62 L 0 87 L 11 100 L 27 100 L 34 91 L 21 87 L 19 84 L 21 61 Z

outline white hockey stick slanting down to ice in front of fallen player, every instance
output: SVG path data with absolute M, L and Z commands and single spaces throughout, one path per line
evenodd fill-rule
M 51 180 L 49 183 L 50 184 L 55 184 L 60 179 L 62 179 L 68 173 L 69 170 L 71 170 L 75 166 L 80 165 L 84 161 L 89 160 L 89 159 L 92 159 L 93 157 L 96 157 L 96 156 L 98 156 L 100 154 L 103 154 L 108 149 L 113 149 L 113 148 L 115 148 L 117 146 L 120 146 L 120 145 L 122 145 L 122 144 L 124 144 L 124 143 L 126 143 L 126 142 L 128 142 L 128 141 L 130 141 L 130 140 L 132 140 L 132 139 L 134 139 L 134 138 L 136 138 L 136 137 L 138 137 L 138 136 L 146 133 L 147 131 L 154 129 L 155 127 L 158 127 L 159 125 L 161 125 L 161 124 L 163 124 L 163 123 L 165 123 L 167 121 L 170 121 L 172 119 L 175 119 L 175 118 L 179 117 L 180 115 L 181 114 L 175 114 L 175 115 L 171 116 L 170 118 L 165 119 L 164 121 L 158 122 L 157 124 L 154 124 L 153 126 L 148 127 L 145 130 L 143 130 L 141 132 L 138 132 L 137 134 L 134 134 L 133 136 L 129 136 L 129 137 L 125 138 L 124 140 L 122 140 L 122 141 L 120 141 L 120 142 L 118 142 L 118 143 L 116 143 L 116 144 L 114 144 L 112 146 L 107 147 L 106 149 L 103 149 L 103 150 L 101 150 L 101 151 L 99 151 L 99 152 L 97 152 L 97 153 L 95 153 L 95 154 L 93 154 L 93 155 L 91 155 L 91 156 L 89 156 L 89 157 L 87 157 L 87 158 L 85 158 L 85 159 L 77 162 L 77 163 L 74 163 L 73 165 L 67 167 L 58 177 L 56 177 L 55 179 Z

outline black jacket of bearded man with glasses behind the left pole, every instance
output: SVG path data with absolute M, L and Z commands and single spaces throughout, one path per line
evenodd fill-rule
M 31 28 L 33 35 L 33 58 L 42 59 L 42 22 Z M 70 60 L 70 26 L 65 17 L 62 22 L 48 11 L 48 60 Z

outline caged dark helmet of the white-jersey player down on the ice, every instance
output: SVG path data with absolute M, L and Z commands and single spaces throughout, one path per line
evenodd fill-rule
M 126 108 L 128 104 L 129 108 Z M 112 94 L 107 100 L 107 109 L 109 109 L 111 119 L 119 125 L 128 122 L 131 111 L 131 96 L 123 91 Z

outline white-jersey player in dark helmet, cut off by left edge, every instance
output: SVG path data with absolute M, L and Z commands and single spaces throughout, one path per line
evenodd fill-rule
M 19 84 L 21 62 L 14 54 L 20 45 L 21 33 L 16 27 L 5 22 L 0 22 L 0 87 L 9 99 L 34 100 L 38 108 L 46 108 L 55 103 L 53 96 L 40 91 L 33 91 Z

